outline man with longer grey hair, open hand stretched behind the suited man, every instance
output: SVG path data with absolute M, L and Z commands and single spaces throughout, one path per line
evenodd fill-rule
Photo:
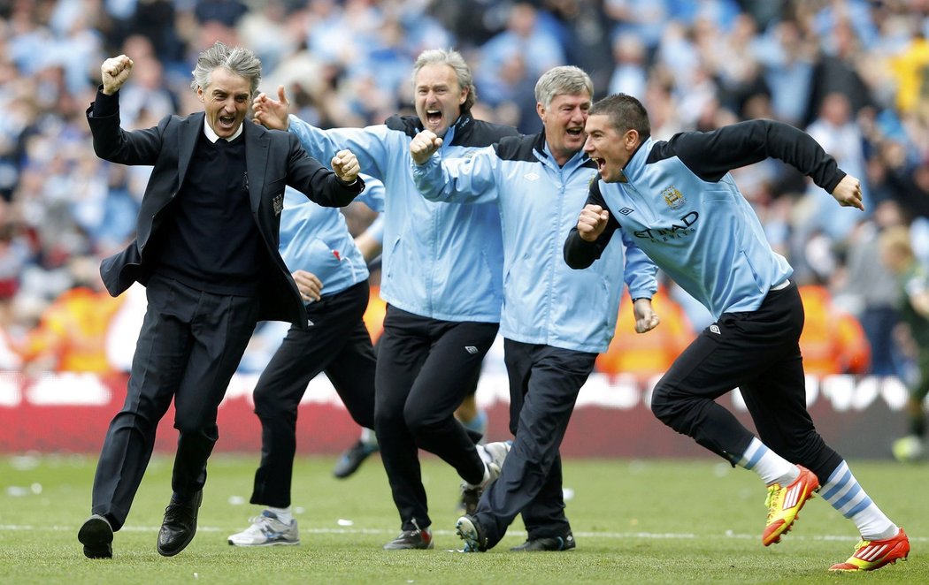
M 476 447 L 452 416 L 499 329 L 500 216 L 491 204 L 425 201 L 412 182 L 410 141 L 426 128 L 445 137 L 448 155 L 463 156 L 517 131 L 471 116 L 471 71 L 454 51 L 424 51 L 413 65 L 413 90 L 417 116 L 392 116 L 366 128 L 321 130 L 288 117 L 282 88 L 279 101 L 261 94 L 254 104 L 258 122 L 288 128 L 307 152 L 353 149 L 365 173 L 384 181 L 388 193 L 381 276 L 387 312 L 374 430 L 401 531 L 387 549 L 433 548 L 418 448 L 448 462 L 473 490 L 496 478 L 506 454 L 504 444 Z

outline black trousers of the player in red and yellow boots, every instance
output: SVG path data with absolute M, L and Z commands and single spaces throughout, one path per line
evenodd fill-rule
M 768 293 L 757 311 L 723 314 L 674 360 L 655 387 L 652 411 L 735 464 L 753 435 L 713 400 L 739 387 L 761 441 L 825 481 L 842 457 L 806 410 L 803 328 L 804 305 L 794 284 Z

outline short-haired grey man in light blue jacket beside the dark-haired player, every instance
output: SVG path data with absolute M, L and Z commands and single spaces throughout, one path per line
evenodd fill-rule
M 658 324 L 651 310 L 655 266 L 635 243 L 614 241 L 601 265 L 571 270 L 562 246 L 595 178 L 582 152 L 594 92 L 576 67 L 546 71 L 535 94 L 544 131 L 508 137 L 454 159 L 433 156 L 441 139 L 413 138 L 413 177 L 432 201 L 495 204 L 504 230 L 504 310 L 500 330 L 510 379 L 510 430 L 516 435 L 500 478 L 475 513 L 458 521 L 465 552 L 486 551 L 522 513 L 529 533 L 512 549 L 575 547 L 562 496 L 558 448 L 582 384 L 616 327 L 623 271 L 635 299 L 636 329 Z M 626 244 L 623 258 L 622 243 Z M 624 264 L 623 264 L 624 262 Z

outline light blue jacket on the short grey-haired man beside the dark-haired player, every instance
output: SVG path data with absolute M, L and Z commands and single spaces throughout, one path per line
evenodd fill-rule
M 466 159 L 442 153 L 413 164 L 427 199 L 497 206 L 504 233 L 504 338 L 601 353 L 616 330 L 623 284 L 616 275 L 623 265 L 634 298 L 655 293 L 655 265 L 632 240 L 625 242 L 625 256 L 620 239 L 606 246 L 603 262 L 588 270 L 565 263 L 563 242 L 595 176 L 583 152 L 559 167 L 543 133 L 503 138 Z

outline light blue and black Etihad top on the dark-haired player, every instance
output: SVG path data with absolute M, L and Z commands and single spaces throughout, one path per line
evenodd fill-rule
M 828 192 L 845 176 L 816 140 L 786 123 L 752 120 L 668 141 L 648 138 L 620 182 L 591 185 L 587 203 L 609 210 L 608 225 L 595 242 L 583 241 L 575 228 L 566 260 L 589 266 L 622 228 L 714 318 L 758 309 L 793 268 L 771 249 L 729 171 L 767 158 L 791 164 Z

